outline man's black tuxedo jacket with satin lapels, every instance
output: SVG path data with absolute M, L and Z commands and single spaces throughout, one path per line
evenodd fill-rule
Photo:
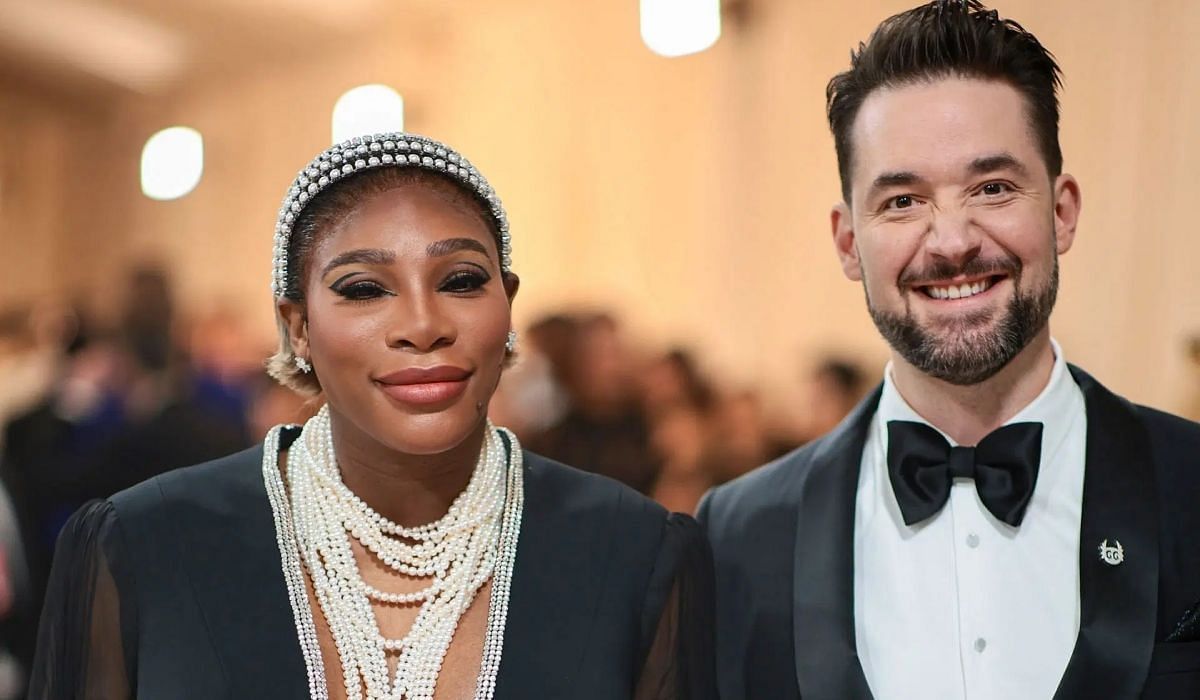
M 1200 425 L 1070 369 L 1087 411 L 1080 630 L 1060 700 L 1195 700 Z M 724 700 L 871 698 L 854 642 L 854 496 L 880 390 L 832 433 L 706 496 Z M 1124 563 L 1104 564 L 1103 539 Z M 1175 636 L 1172 636 L 1172 634 Z M 1182 636 L 1187 641 L 1165 641 Z

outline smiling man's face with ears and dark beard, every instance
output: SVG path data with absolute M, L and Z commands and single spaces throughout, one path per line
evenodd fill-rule
M 1003 82 L 876 90 L 851 138 L 852 202 L 833 211 L 846 276 L 863 282 L 904 360 L 983 382 L 1048 333 L 1078 184 L 1051 180 L 1025 102 Z

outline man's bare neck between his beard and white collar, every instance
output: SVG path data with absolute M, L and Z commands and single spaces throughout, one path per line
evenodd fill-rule
M 1054 370 L 1050 330 L 1044 329 L 1004 367 L 968 387 L 930 377 L 893 352 L 892 379 L 900 396 L 958 444 L 978 444 L 1033 402 Z

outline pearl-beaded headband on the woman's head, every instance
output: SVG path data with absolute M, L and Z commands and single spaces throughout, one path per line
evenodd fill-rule
M 500 270 L 508 273 L 512 265 L 512 244 L 509 237 L 509 220 L 496 191 L 484 175 L 467 158 L 450 146 L 414 133 L 391 132 L 360 136 L 335 144 L 313 158 L 293 180 L 280 208 L 275 222 L 275 256 L 271 292 L 283 297 L 288 280 L 288 245 L 292 227 L 308 202 L 340 179 L 364 170 L 382 167 L 422 168 L 443 173 L 473 191 L 487 204 L 496 222 L 500 240 Z

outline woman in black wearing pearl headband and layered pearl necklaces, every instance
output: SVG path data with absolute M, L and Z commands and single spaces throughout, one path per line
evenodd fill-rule
M 78 513 L 32 696 L 714 696 L 695 522 L 487 421 L 509 253 L 492 189 L 437 142 L 301 170 L 269 369 L 324 406 Z

